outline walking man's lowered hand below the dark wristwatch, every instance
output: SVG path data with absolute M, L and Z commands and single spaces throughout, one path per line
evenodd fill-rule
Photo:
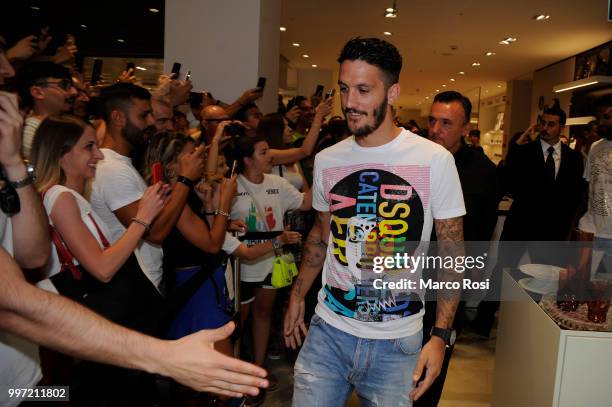
M 433 381 L 436 380 L 440 370 L 442 370 L 445 351 L 446 345 L 444 341 L 437 336 L 432 336 L 429 342 L 423 346 L 419 354 L 419 360 L 412 373 L 412 386 L 414 387 L 410 392 L 412 400 L 418 400 L 431 387 Z M 425 378 L 419 382 L 423 375 L 423 369 L 427 369 Z

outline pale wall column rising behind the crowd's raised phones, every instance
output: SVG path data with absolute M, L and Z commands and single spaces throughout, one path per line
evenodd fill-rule
M 165 72 L 180 62 L 195 90 L 227 103 L 266 76 L 259 103 L 276 110 L 280 0 L 166 0 L 165 17 Z

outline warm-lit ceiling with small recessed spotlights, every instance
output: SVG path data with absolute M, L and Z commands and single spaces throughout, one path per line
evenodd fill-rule
M 392 0 L 282 0 L 281 53 L 294 67 L 335 72 L 348 39 L 385 38 L 404 59 L 398 105 L 418 108 L 436 89 L 481 86 L 483 98 L 499 94 L 507 80 L 612 39 L 608 0 L 397 0 L 398 17 L 385 18 L 391 6 Z M 537 22 L 537 14 L 550 19 Z M 518 40 L 498 44 L 509 36 Z M 472 67 L 475 61 L 481 65 Z

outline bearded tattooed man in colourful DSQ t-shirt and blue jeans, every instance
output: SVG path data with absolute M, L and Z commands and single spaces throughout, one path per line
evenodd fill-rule
M 343 406 L 354 389 L 375 405 L 410 406 L 440 371 L 458 299 L 438 301 L 432 338 L 421 349 L 421 270 L 374 272 L 370 249 L 426 253 L 434 225 L 441 243 L 462 241 L 461 186 L 446 149 L 393 124 L 389 104 L 399 96 L 402 66 L 397 49 L 356 38 L 338 62 L 353 136 L 315 159 L 318 213 L 285 316 L 287 345 L 301 344 L 306 334 L 304 295 L 321 268 L 323 287 L 295 364 L 293 405 Z M 381 287 L 403 279 L 415 287 Z

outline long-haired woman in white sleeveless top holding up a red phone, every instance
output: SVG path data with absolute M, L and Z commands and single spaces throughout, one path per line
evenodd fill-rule
M 83 196 L 102 158 L 94 128 L 73 116 L 45 119 L 34 136 L 31 159 L 36 187 L 43 194 L 55 245 L 47 268 L 53 286 L 49 280 L 42 285 L 60 294 L 84 292 L 83 305 L 121 325 L 156 335 L 155 314 L 162 299 L 133 252 L 164 207 L 168 189 L 162 184 L 149 187 L 126 232 L 110 245 L 107 226 Z M 108 384 L 104 390 L 99 386 L 102 377 Z M 145 377 L 82 362 L 71 376 L 71 397 L 112 399 L 128 387 L 146 392 L 151 380 Z

